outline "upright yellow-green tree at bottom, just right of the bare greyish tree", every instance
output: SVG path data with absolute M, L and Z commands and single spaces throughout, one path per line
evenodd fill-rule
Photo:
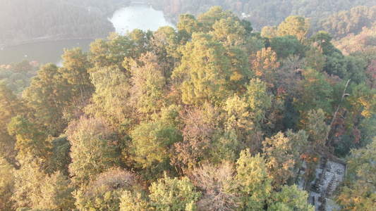
M 241 151 L 236 172 L 243 209 L 262 210 L 272 191 L 272 178 L 268 176 L 265 159 L 260 154 L 252 156 L 249 149 Z

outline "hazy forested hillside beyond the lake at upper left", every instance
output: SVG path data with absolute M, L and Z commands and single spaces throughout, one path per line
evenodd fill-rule
M 107 37 L 107 13 L 128 1 L 0 1 L 0 46 L 38 40 Z

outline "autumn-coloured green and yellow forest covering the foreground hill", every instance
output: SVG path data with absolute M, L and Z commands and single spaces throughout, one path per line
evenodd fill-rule
M 338 33 L 310 36 L 295 15 L 260 33 L 214 6 L 66 49 L 62 67 L 1 65 L 0 210 L 315 210 L 322 157 L 348 163 L 341 208 L 376 207 L 367 17 L 344 34 L 329 18 Z

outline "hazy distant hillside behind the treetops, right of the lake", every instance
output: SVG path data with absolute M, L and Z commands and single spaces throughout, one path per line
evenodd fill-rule
M 222 6 L 233 13 L 243 16 L 252 23 L 255 30 L 261 31 L 267 25 L 278 25 L 289 15 L 301 15 L 311 19 L 315 30 L 322 18 L 349 10 L 356 6 L 375 6 L 375 0 L 151 0 L 153 6 L 159 6 L 171 19 L 178 22 L 178 15 L 191 13 L 198 15 L 212 6 Z

